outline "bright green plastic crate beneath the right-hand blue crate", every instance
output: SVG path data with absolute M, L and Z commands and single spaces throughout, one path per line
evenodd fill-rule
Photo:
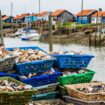
M 61 86 L 67 84 L 77 84 L 77 83 L 89 83 L 91 82 L 95 72 L 89 69 L 86 69 L 87 72 L 81 74 L 73 74 L 68 76 L 59 76 L 58 81 Z

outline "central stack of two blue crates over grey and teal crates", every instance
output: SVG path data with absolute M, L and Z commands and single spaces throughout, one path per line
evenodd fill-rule
M 16 48 L 7 48 L 13 51 Z M 39 47 L 18 47 L 18 49 L 28 50 L 41 50 Z M 44 51 L 45 52 L 45 51 Z M 57 79 L 61 75 L 61 72 L 54 70 L 53 63 L 55 58 L 51 57 L 49 60 L 37 60 L 26 63 L 15 63 L 15 69 L 17 70 L 18 79 L 26 84 L 32 85 L 37 89 L 37 93 L 32 96 L 32 100 L 44 100 L 53 99 L 56 97 L 56 87 L 58 85 Z M 45 72 L 53 71 L 52 74 L 44 74 Z M 22 78 L 30 73 L 36 73 L 36 76 L 31 78 Z

